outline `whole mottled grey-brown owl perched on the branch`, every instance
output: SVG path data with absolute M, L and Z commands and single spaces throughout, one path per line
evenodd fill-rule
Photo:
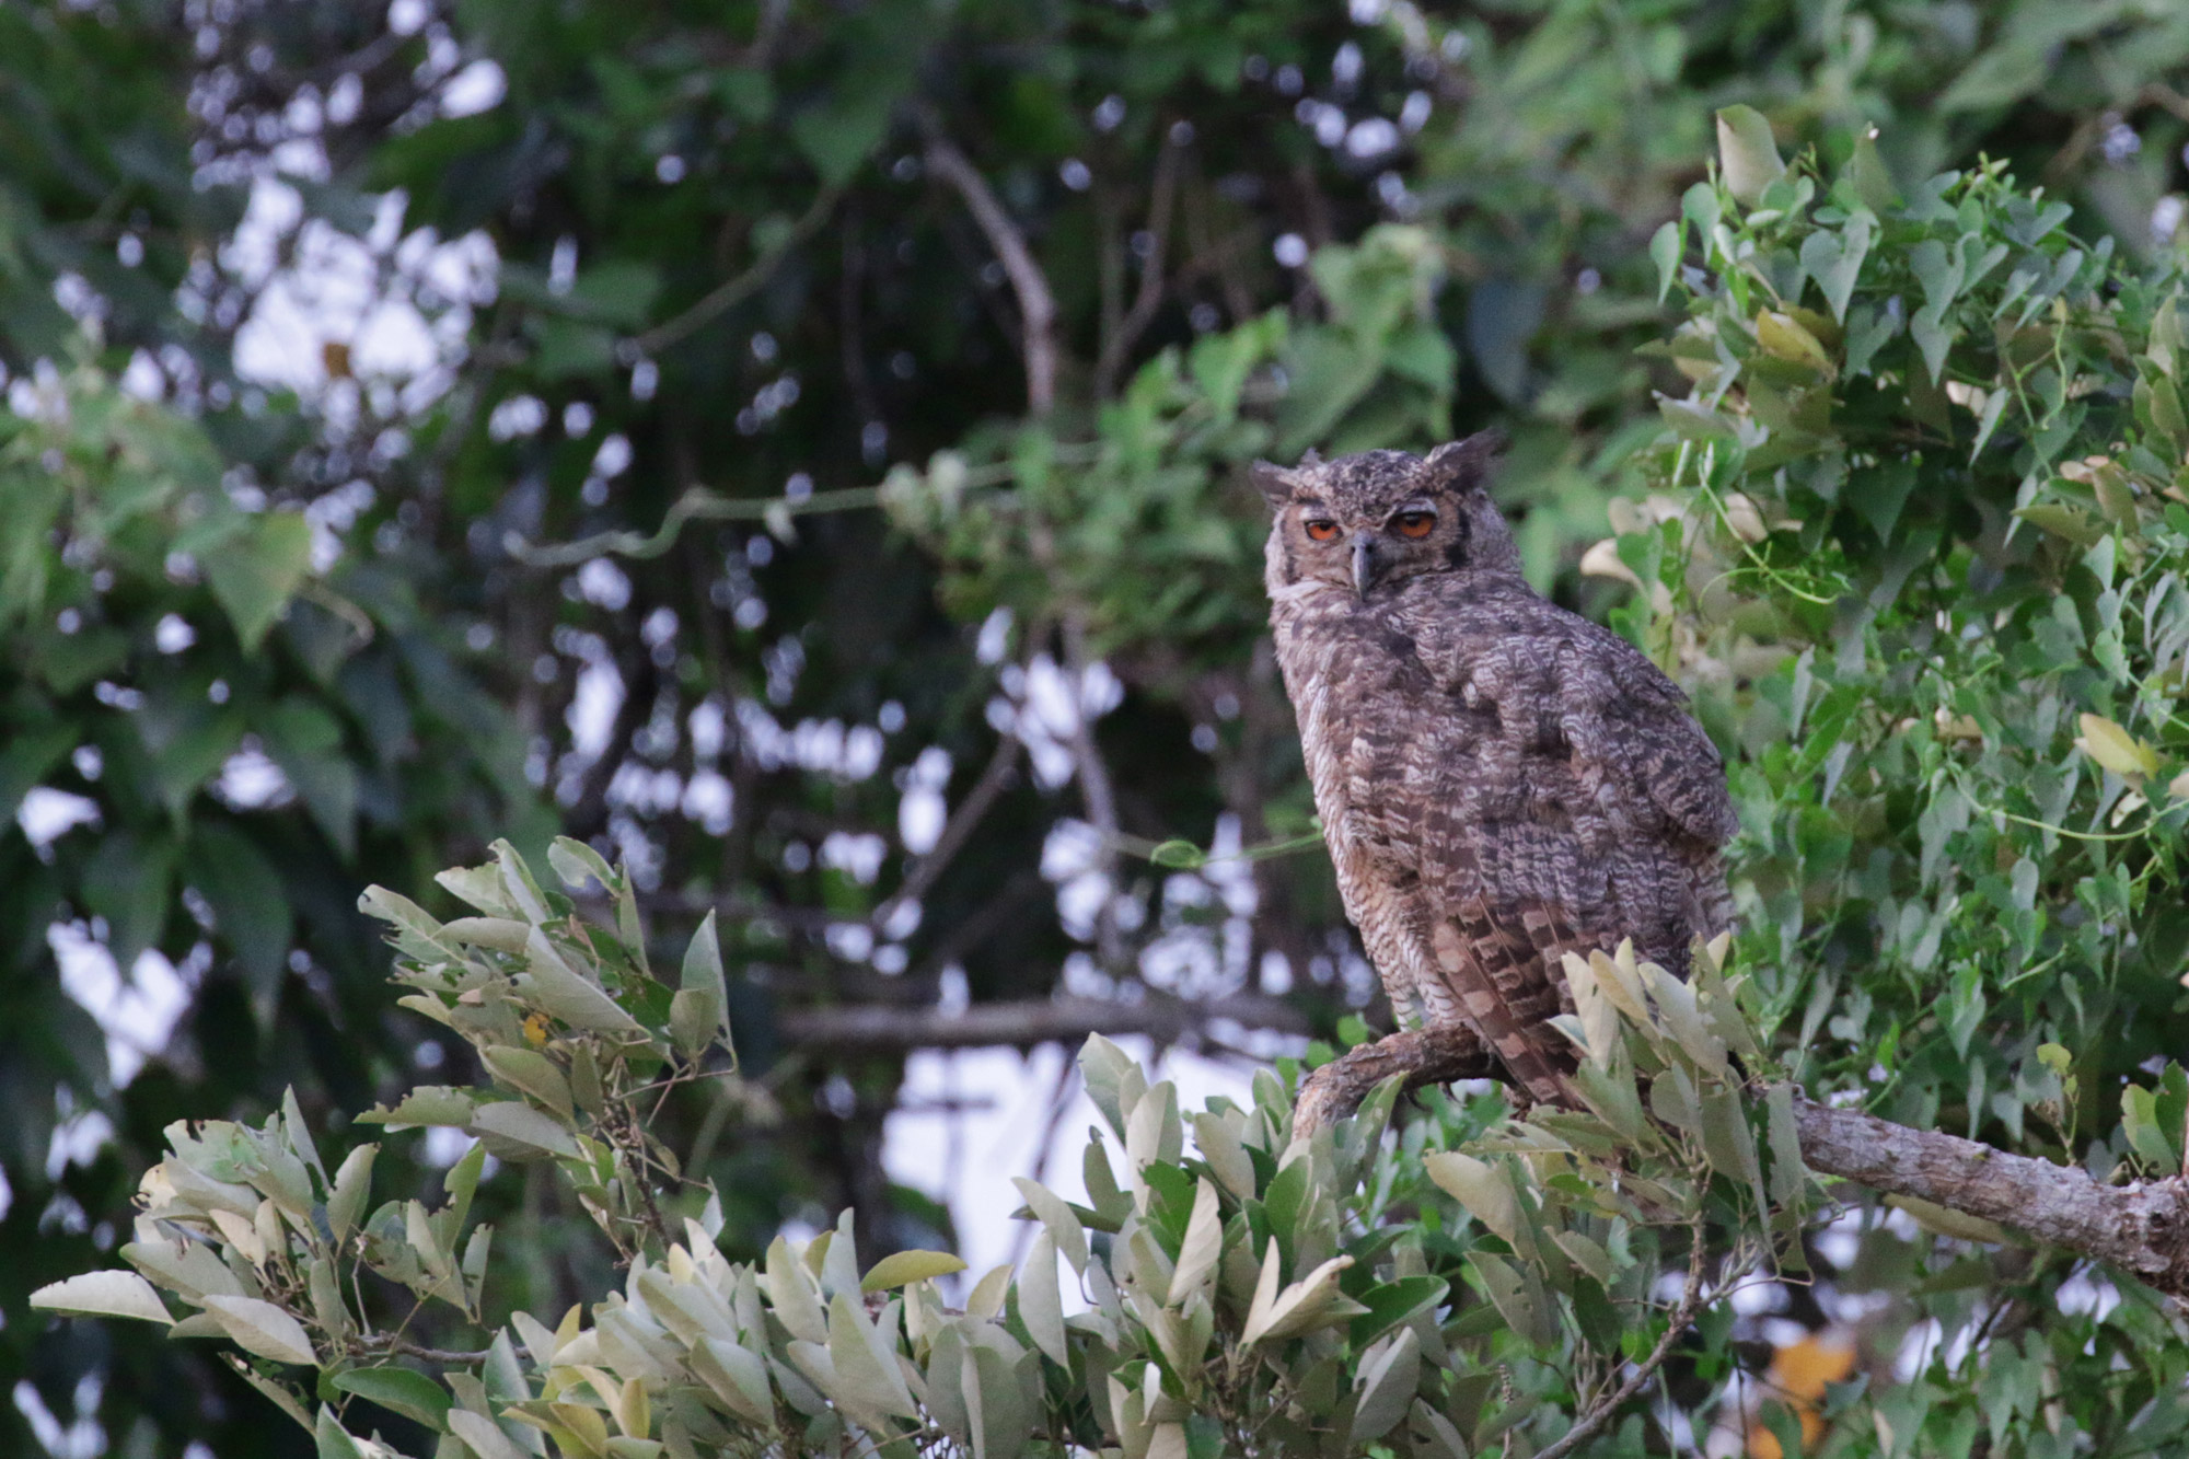
M 1561 960 L 1686 973 L 1731 920 L 1725 765 L 1679 688 L 1528 587 L 1495 436 L 1256 464 L 1270 627 L 1346 916 L 1392 1012 L 1572 1104 Z

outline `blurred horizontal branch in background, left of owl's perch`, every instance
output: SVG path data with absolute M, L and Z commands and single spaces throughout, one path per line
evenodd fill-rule
M 1180 1043 L 1217 1023 L 1270 1027 L 1287 1034 L 1309 1032 L 1307 1019 L 1292 1003 L 1267 997 L 1237 995 L 1208 1003 L 1180 999 L 1147 999 L 1145 1003 L 1110 1003 L 1103 999 L 1024 999 L 1016 1003 L 974 1003 L 963 1012 L 941 1008 L 887 1008 L 854 1003 L 838 1008 L 797 1008 L 781 1014 L 786 1043 L 836 1054 L 882 1054 L 900 1049 L 970 1049 L 1027 1047 L 1035 1043 L 1084 1043 L 1088 1034 L 1116 1038 L 1140 1034 L 1156 1043 Z

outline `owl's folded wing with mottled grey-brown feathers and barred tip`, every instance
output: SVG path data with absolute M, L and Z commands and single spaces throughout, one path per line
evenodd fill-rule
M 1453 1012 L 1532 1095 L 1572 1102 L 1574 1052 L 1550 1027 L 1563 955 L 1631 935 L 1683 962 L 1723 927 L 1710 885 L 1723 892 L 1736 819 L 1686 694 L 1626 640 L 1524 591 L 1416 624 L 1456 727 L 1412 850 L 1427 970 Z

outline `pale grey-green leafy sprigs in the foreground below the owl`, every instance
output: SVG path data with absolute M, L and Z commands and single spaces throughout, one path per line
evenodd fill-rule
M 1449 1146 L 1484 1135 L 1493 1100 L 1438 1100 L 1386 1139 L 1388 1080 L 1357 1117 L 1305 1137 L 1274 1073 L 1250 1106 L 1186 1113 L 1097 1036 L 1079 1056 L 1108 1126 L 1084 1154 L 1090 1205 L 1020 1179 L 1038 1222 L 1024 1264 L 983 1275 L 961 1310 L 937 1286 L 963 1271 L 954 1255 L 900 1251 L 860 1273 L 852 1211 L 729 1262 L 711 1183 L 685 1179 L 646 1126 L 679 1082 L 738 1098 L 733 1067 L 709 1067 L 729 1052 L 714 927 L 672 990 L 633 935 L 628 876 L 569 839 L 552 859 L 571 892 L 606 894 L 613 931 L 506 843 L 440 878 L 477 916 L 440 922 L 381 887 L 363 898 L 392 927 L 403 1001 L 460 1032 L 493 1080 L 416 1087 L 359 1117 L 477 1135 L 438 1209 L 396 1198 L 368 1216 L 381 1146 L 328 1172 L 291 1095 L 260 1128 L 173 1126 L 123 1247 L 136 1273 L 72 1277 L 33 1303 L 228 1339 L 256 1358 L 236 1369 L 339 1457 L 396 1452 L 357 1433 L 394 1413 L 438 1435 L 438 1455 L 479 1459 L 545 1441 L 565 1459 L 1370 1444 L 1464 1459 L 1502 1435 L 1554 1441 L 1578 1411 L 1631 1395 L 1622 1365 L 1661 1363 L 1703 1301 L 1714 1225 L 1738 1251 L 1718 1301 L 1773 1244 L 1799 1262 L 1769 1236 L 1793 1236 L 1806 1198 L 1791 1106 L 1784 1089 L 1769 1113 L 1740 1100 L 1731 1056 L 1756 1065 L 1760 1049 L 1723 944 L 1692 988 L 1629 949 L 1574 960 L 1589 1113 L 1495 1124 L 1475 1154 Z M 493 1227 L 471 1225 L 488 1157 L 552 1170 L 617 1251 L 622 1290 L 554 1323 L 521 1308 L 488 1323 Z M 1681 1260 L 1666 1314 L 1657 1273 Z M 188 1308 L 179 1321 L 160 1288 Z M 484 1347 L 405 1339 L 427 1301 Z M 296 1387 L 298 1367 L 317 1378 Z

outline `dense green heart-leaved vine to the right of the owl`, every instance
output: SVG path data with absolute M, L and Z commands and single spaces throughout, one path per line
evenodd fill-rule
M 1629 629 L 1740 751 L 1760 1025 L 1812 1089 L 1902 1124 L 2169 1174 L 2180 274 L 2077 241 L 1999 162 L 1902 191 L 1856 147 L 1826 184 L 1753 114 L 1723 120 L 1657 248 L 1690 383 L 1661 399 L 1657 491 L 1591 561 L 1642 589 Z M 2176 1319 L 2080 1308 L 2073 1262 L 1990 1236 L 1885 1279 L 1944 1349 L 1828 1404 L 1850 1420 L 1828 1452 L 1869 1452 L 1865 1406 L 1878 1452 L 2178 1441 Z M 2016 1417 L 2036 1393 L 2042 1431 Z

